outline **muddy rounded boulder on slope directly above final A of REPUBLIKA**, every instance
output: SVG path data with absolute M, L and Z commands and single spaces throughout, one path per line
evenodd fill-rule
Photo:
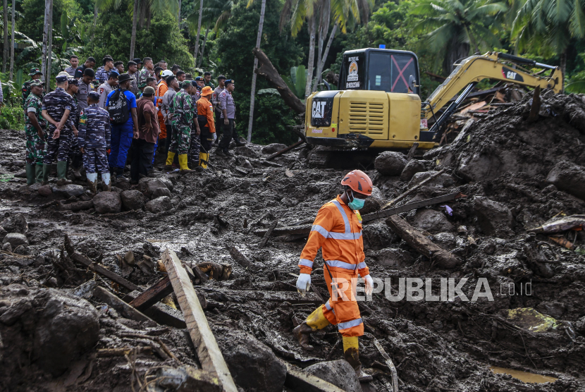
M 512 212 L 504 204 L 487 197 L 476 196 L 473 208 L 481 231 L 487 235 L 510 233 L 514 221 Z

